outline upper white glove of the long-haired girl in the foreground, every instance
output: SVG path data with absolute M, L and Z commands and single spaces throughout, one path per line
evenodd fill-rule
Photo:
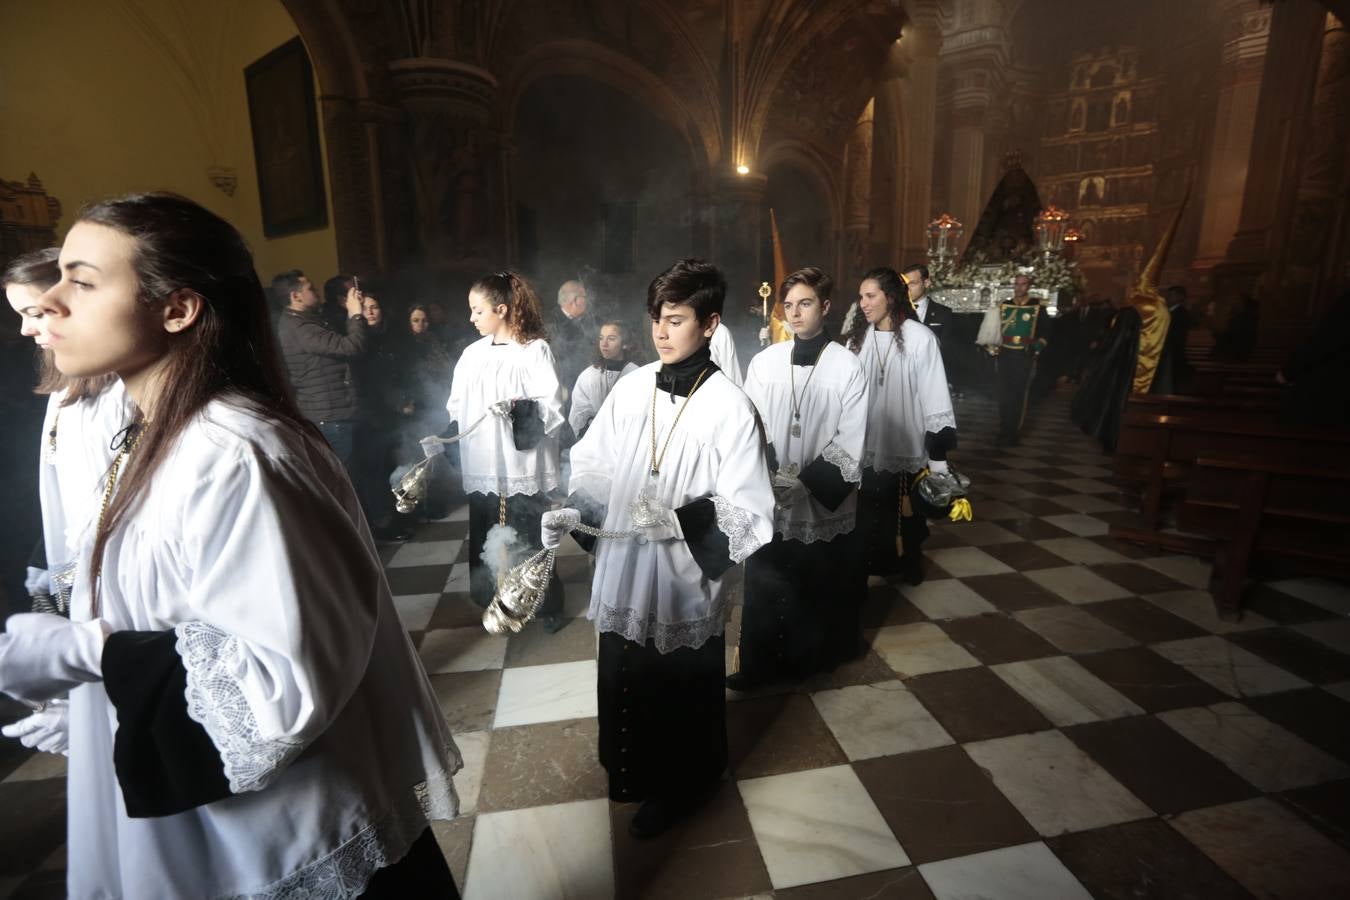
M 20 700 L 47 700 L 103 679 L 103 644 L 111 633 L 103 619 L 11 615 L 0 634 L 0 691 Z

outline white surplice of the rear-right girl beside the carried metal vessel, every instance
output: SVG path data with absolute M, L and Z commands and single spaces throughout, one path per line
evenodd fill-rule
M 923 434 L 956 428 L 937 337 L 913 318 L 900 325 L 900 337 L 903 349 L 894 332 L 868 325 L 857 354 L 871 391 L 863 466 L 879 472 L 919 471 L 929 461 Z

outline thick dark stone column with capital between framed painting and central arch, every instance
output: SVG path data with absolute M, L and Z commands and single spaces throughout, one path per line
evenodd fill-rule
M 508 173 L 497 78 L 441 58 L 396 59 L 389 72 L 408 112 L 417 239 L 427 266 L 478 274 L 509 256 Z

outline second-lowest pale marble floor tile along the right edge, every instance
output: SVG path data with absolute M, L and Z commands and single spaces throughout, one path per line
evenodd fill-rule
M 1350 765 L 1241 703 L 1169 710 L 1158 718 L 1262 791 L 1350 777 Z

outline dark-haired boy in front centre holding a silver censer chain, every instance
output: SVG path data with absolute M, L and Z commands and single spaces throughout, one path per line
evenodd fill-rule
M 599 760 L 609 795 L 641 800 L 629 830 L 664 831 L 726 768 L 722 576 L 774 534 L 755 407 L 711 362 L 726 281 L 686 259 L 647 290 L 660 363 L 614 385 L 572 447 L 572 506 L 601 538 L 589 617 L 599 630 Z M 576 509 L 545 513 L 556 546 Z

